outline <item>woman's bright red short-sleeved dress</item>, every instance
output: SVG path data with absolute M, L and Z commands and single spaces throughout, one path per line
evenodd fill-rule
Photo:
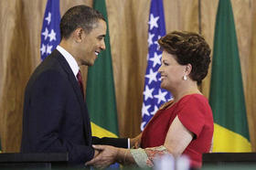
M 170 108 L 167 108 L 168 105 L 160 108 L 146 125 L 142 135 L 142 148 L 163 145 L 166 133 L 177 115 L 187 130 L 195 134 L 183 154 L 190 158 L 191 166 L 200 167 L 202 154 L 209 152 L 213 135 L 213 117 L 208 99 L 200 94 L 190 94 Z

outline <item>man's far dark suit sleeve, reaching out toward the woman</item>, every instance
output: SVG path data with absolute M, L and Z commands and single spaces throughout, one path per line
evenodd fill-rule
M 96 136 L 92 136 L 92 143 L 128 148 L 128 139 L 127 138 L 110 138 L 110 137 L 99 138 Z

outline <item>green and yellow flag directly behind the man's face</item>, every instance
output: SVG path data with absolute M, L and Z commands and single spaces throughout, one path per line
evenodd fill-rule
M 93 8 L 100 11 L 105 17 L 108 27 L 105 0 L 94 0 Z M 105 45 L 106 50 L 101 52 L 99 58 L 95 60 L 94 66 L 88 69 L 86 101 L 91 117 L 92 135 L 117 137 L 118 123 L 109 29 L 107 29 Z

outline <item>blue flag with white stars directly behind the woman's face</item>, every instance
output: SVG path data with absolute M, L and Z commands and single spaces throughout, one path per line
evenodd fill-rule
M 144 80 L 144 103 L 142 108 L 143 121 L 141 130 L 154 116 L 158 108 L 171 99 L 167 90 L 160 88 L 161 80 L 158 69 L 161 66 L 162 51 L 157 40 L 165 36 L 165 15 L 162 0 L 151 0 L 148 22 L 148 56 Z

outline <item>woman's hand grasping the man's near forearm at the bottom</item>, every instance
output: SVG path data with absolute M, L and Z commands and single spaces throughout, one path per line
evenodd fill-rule
M 91 161 L 85 165 L 93 165 L 97 168 L 105 168 L 112 165 L 116 161 L 118 148 L 109 145 L 92 145 L 95 151 L 100 151 Z M 95 155 L 95 154 L 94 154 Z

